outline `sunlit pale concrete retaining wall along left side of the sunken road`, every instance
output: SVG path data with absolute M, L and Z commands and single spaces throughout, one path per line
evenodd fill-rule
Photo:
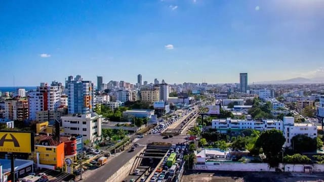
M 143 148 L 142 150 L 140 150 L 133 158 L 131 158 L 130 161 L 128 161 L 124 166 L 120 167 L 120 169 L 118 169 L 114 174 L 112 174 L 107 180 L 106 182 L 110 182 L 110 181 L 122 181 L 124 178 L 126 178 L 129 173 L 130 170 L 133 166 L 133 163 L 136 159 L 136 156 L 138 156 L 141 152 L 143 152 L 146 148 Z

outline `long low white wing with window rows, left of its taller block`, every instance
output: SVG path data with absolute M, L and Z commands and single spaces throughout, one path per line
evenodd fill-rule
M 281 120 L 275 119 L 256 119 L 256 120 L 244 120 L 244 119 L 213 119 L 212 128 L 217 129 L 220 133 L 227 133 L 228 131 L 235 132 L 244 129 L 279 129 L 284 127 Z

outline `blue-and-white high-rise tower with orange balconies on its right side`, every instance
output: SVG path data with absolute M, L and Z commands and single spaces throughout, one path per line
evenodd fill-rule
M 68 113 L 86 114 L 92 112 L 93 85 L 91 81 L 74 79 L 67 84 Z

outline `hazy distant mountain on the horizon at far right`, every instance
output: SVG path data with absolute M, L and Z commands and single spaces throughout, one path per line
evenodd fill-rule
M 324 77 L 303 78 L 297 77 L 287 80 L 260 81 L 255 84 L 305 84 L 305 83 L 324 83 Z

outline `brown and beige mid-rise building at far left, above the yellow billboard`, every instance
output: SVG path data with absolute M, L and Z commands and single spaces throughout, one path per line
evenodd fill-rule
M 24 121 L 29 118 L 29 107 L 27 99 L 6 100 L 5 118 L 10 120 Z

